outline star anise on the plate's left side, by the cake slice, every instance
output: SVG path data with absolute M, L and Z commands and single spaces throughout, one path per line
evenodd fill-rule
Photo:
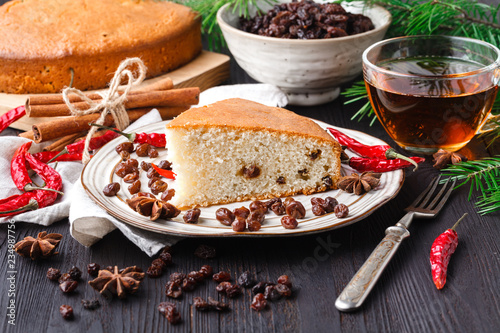
M 149 216 L 151 221 L 155 221 L 160 217 L 170 219 L 176 217 L 181 212 L 171 203 L 149 196 L 137 196 L 127 199 L 127 204 L 139 214 Z

